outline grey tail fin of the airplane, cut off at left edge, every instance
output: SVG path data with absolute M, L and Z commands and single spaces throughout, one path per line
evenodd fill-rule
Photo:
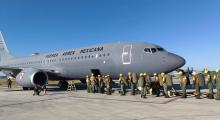
M 9 51 L 5 44 L 5 40 L 0 32 L 0 62 L 6 62 L 8 59 L 14 58 Z

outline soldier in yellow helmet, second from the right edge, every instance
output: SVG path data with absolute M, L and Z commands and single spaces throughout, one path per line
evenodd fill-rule
M 210 72 L 206 69 L 204 71 L 204 75 L 205 75 L 205 80 L 209 89 L 209 93 L 207 94 L 207 98 L 208 99 L 214 99 L 214 95 L 213 95 L 213 82 L 212 82 L 212 77 L 210 75 Z

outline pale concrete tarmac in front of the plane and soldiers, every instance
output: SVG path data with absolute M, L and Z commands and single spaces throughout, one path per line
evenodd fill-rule
M 220 101 L 147 96 L 120 96 L 118 92 L 88 94 L 59 91 L 33 96 L 20 87 L 0 88 L 0 120 L 219 120 Z

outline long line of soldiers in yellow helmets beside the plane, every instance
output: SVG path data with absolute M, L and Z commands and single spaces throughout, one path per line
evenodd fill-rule
M 207 98 L 220 100 L 220 70 L 208 71 L 204 70 L 202 73 L 193 72 L 189 74 L 184 70 L 177 70 L 178 78 L 180 81 L 181 92 L 177 92 L 173 88 L 173 76 L 165 73 L 154 73 L 153 77 L 150 77 L 147 73 L 136 73 L 129 72 L 126 75 L 119 74 L 118 84 L 120 85 L 119 93 L 121 96 L 126 95 L 128 89 L 131 89 L 131 95 L 141 94 L 141 98 L 146 98 L 147 94 L 155 95 L 156 97 L 162 95 L 165 98 L 171 96 L 181 95 L 182 98 L 187 98 L 187 88 L 190 85 L 190 78 L 192 78 L 192 85 L 195 88 L 195 97 L 200 99 L 200 90 L 207 86 L 209 91 Z M 115 82 L 112 81 L 110 75 L 97 77 L 94 74 L 86 76 L 87 92 L 88 93 L 106 93 L 111 95 L 112 86 Z M 216 87 L 217 93 L 214 97 L 213 89 Z

